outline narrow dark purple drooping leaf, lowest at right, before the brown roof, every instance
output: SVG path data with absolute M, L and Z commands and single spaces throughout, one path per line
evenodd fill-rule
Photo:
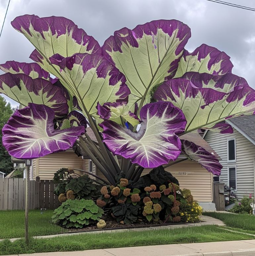
M 212 172 L 214 175 L 221 174 L 223 166 L 212 153 L 191 141 L 181 140 L 181 142 L 182 152 L 189 160 L 199 163 L 203 168 Z

